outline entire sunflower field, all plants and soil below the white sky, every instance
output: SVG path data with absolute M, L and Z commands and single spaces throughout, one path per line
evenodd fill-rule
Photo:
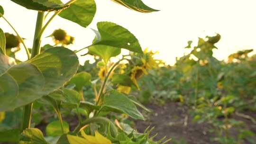
M 190 53 L 171 66 L 125 27 L 100 21 L 91 45 L 71 50 L 76 37 L 64 29 L 43 34 L 57 16 L 88 28 L 94 0 L 11 1 L 37 11 L 37 22 L 27 45 L 0 6 L 13 30 L 0 25 L 0 144 L 256 144 L 253 49 L 219 61 L 221 36 L 206 36 L 188 41 Z M 141 0 L 112 1 L 158 11 Z M 54 45 L 41 44 L 49 37 Z

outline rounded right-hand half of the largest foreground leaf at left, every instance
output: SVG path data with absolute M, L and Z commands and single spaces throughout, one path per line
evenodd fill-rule
M 79 66 L 76 54 L 64 47 L 47 49 L 28 62 L 35 64 L 45 77 L 44 95 L 63 86 Z

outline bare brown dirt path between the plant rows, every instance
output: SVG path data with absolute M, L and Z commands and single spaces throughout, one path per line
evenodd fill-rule
M 192 122 L 188 108 L 180 103 L 168 102 L 164 106 L 148 105 L 153 110 L 146 121 L 136 121 L 136 128 L 143 132 L 147 126 L 155 126 L 154 132 L 158 133 L 155 139 L 164 136 L 183 138 L 187 143 L 170 142 L 168 144 L 217 144 L 210 141 L 214 134 L 209 133 L 209 124 L 197 124 Z M 239 119 L 249 124 L 250 129 L 256 133 L 256 125 L 250 124 L 250 120 Z

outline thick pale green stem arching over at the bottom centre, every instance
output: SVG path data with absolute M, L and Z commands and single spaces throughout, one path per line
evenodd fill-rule
M 85 121 L 83 121 L 80 125 L 78 125 L 73 130 L 73 133 L 77 134 L 83 126 L 91 124 L 91 123 L 107 124 L 107 125 L 110 126 L 110 132 L 111 132 L 112 136 L 116 137 L 116 135 L 118 134 L 117 128 L 113 124 L 113 122 L 110 121 L 108 118 L 105 118 L 105 117 L 92 117 L 92 118 L 88 118 Z

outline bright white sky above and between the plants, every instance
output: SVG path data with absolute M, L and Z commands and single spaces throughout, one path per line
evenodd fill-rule
M 148 6 L 161 10 L 148 14 L 132 11 L 111 0 L 95 1 L 97 12 L 89 27 L 97 29 L 99 21 L 111 21 L 126 27 L 143 48 L 159 51 L 157 57 L 169 64 L 174 64 L 175 57 L 184 54 L 183 47 L 187 41 L 196 43 L 197 37 L 215 32 L 222 36 L 217 45 L 219 49 L 214 51 L 219 60 L 242 49 L 253 48 L 256 51 L 256 0 L 143 0 Z M 5 9 L 5 18 L 27 39 L 26 44 L 32 45 L 37 12 L 10 0 L 0 0 L 0 5 Z M 0 27 L 5 32 L 14 33 L 2 19 Z M 80 27 L 60 17 L 53 20 L 43 37 L 58 28 L 75 37 L 71 49 L 90 45 L 94 38 L 90 28 Z M 51 38 L 43 39 L 42 45 L 47 43 L 52 43 Z M 85 59 L 80 58 L 81 63 Z

